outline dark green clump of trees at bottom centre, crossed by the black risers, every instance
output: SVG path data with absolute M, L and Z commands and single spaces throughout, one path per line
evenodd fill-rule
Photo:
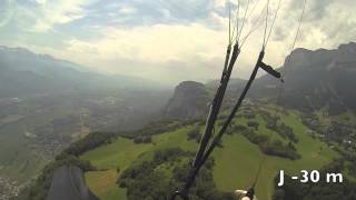
M 184 187 L 194 154 L 180 148 L 157 150 L 151 160 L 135 163 L 125 170 L 118 179 L 118 184 L 127 189 L 129 200 L 166 200 L 174 191 Z M 189 199 L 235 200 L 233 193 L 217 190 L 212 179 L 212 159 L 202 167 L 190 190 Z

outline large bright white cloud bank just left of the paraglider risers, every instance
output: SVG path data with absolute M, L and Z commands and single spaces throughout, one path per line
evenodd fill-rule
M 98 41 L 71 40 L 69 50 L 90 54 L 97 59 L 122 58 L 148 62 L 169 62 L 211 59 L 218 57 L 217 48 L 224 47 L 226 33 L 194 23 L 156 24 L 131 29 L 105 29 Z

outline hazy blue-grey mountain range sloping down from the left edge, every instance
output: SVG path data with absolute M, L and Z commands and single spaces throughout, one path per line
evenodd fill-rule
M 23 48 L 0 47 L 0 98 L 149 87 L 158 84 L 135 77 L 99 74 L 83 66 Z

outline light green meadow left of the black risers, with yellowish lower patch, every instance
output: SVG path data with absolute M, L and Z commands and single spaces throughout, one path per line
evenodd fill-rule
M 103 171 L 89 172 L 86 174 L 87 182 L 92 191 L 102 200 L 126 199 L 125 190 L 116 186 L 116 180 L 120 176 L 117 168 L 122 172 L 136 160 L 150 159 L 157 149 L 177 147 L 180 144 L 186 150 L 192 151 L 196 143 L 187 141 L 187 132 L 191 127 L 187 127 L 175 132 L 168 132 L 154 138 L 151 144 L 135 144 L 132 140 L 119 138 L 115 142 L 87 152 L 81 159 L 90 160 L 93 166 Z M 116 173 L 115 181 L 106 179 L 112 171 Z

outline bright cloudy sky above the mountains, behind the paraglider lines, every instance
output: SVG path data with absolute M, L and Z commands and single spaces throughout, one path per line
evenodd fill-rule
M 240 18 L 247 2 L 240 0 Z M 266 2 L 250 0 L 241 38 L 260 26 L 244 46 L 234 77 L 246 78 L 260 50 Z M 269 21 L 277 2 L 270 0 Z M 228 8 L 236 4 L 237 0 L 0 0 L 0 44 L 28 48 L 105 73 L 170 83 L 206 81 L 219 77 Z M 266 62 L 283 64 L 301 8 L 303 0 L 281 0 Z M 308 0 L 297 47 L 332 49 L 356 41 L 355 8 L 356 1 L 350 0 Z

